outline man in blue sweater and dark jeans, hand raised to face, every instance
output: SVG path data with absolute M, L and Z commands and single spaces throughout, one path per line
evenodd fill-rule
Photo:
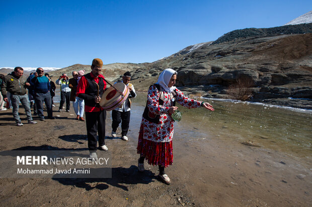
M 44 115 L 43 115 L 43 102 L 45 103 L 47 107 L 48 112 L 48 118 L 49 119 L 55 119 L 55 117 L 52 116 L 52 98 L 50 94 L 50 81 L 49 79 L 43 75 L 43 69 L 37 68 L 35 77 L 31 79 L 31 84 L 34 87 L 35 91 L 35 100 L 37 104 L 37 110 L 38 115 L 40 118 L 40 121 L 44 121 Z

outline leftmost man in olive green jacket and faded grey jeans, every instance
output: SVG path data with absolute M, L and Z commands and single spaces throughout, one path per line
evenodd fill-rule
M 5 79 L 3 80 L 3 86 L 1 87 L 1 92 L 4 97 L 4 101 L 8 101 L 7 97 L 7 91 L 10 92 L 10 98 L 12 102 L 13 107 L 13 117 L 16 121 L 17 126 L 23 126 L 21 118 L 19 116 L 19 106 L 20 102 L 22 103 L 27 119 L 29 124 L 36 124 L 36 121 L 33 121 L 33 118 L 31 116 L 30 106 L 28 102 L 28 95 L 26 94 L 26 88 L 30 86 L 30 84 L 27 82 L 27 79 L 24 74 L 24 69 L 21 67 L 15 67 L 14 71 L 5 76 Z

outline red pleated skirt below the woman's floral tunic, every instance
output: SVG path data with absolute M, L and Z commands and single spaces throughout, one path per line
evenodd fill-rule
M 137 153 L 145 157 L 148 164 L 161 165 L 167 167 L 173 163 L 172 141 L 154 142 L 143 139 L 144 126 L 141 123 L 139 138 L 137 143 Z

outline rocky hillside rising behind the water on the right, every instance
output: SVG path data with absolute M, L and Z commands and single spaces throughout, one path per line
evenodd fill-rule
M 173 68 L 183 91 L 231 98 L 229 87 L 244 78 L 252 83 L 250 101 L 312 109 L 311 32 L 312 24 L 232 31 L 141 65 L 132 82 L 146 91 L 163 69 Z

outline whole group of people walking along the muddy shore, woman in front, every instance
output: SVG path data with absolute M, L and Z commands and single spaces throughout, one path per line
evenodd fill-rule
M 59 111 L 66 101 L 66 111 L 69 111 L 69 100 L 73 101 L 76 119 L 85 121 L 83 114 L 86 114 L 86 128 L 88 137 L 88 148 L 90 158 L 97 158 L 97 149 L 108 150 L 105 143 L 105 119 L 106 111 L 100 106 L 101 97 L 108 88 L 104 76 L 101 74 L 103 61 L 96 58 L 92 61 L 91 72 L 84 74 L 85 71 L 72 72 L 72 79 L 68 79 L 66 74 L 57 79 L 56 84 L 61 85 L 61 102 Z M 34 87 L 37 110 L 40 117 L 43 117 L 42 103 L 45 101 L 48 111 L 48 118 L 52 116 L 50 81 L 42 78 L 43 70 L 38 68 L 34 78 L 31 79 L 31 85 Z M 6 90 L 11 92 L 14 108 L 14 118 L 21 124 L 18 116 L 19 101 L 23 106 L 28 104 L 26 87 L 30 83 L 22 78 L 23 69 L 17 67 L 14 74 L 5 77 L 2 85 L 4 99 L 6 99 Z M 20 79 L 20 80 L 19 80 Z M 164 70 L 157 83 L 151 85 L 148 89 L 146 106 L 142 115 L 140 130 L 138 135 L 137 153 L 138 171 L 144 171 L 144 159 L 148 164 L 159 166 L 159 179 L 166 184 L 170 184 L 170 178 L 165 173 L 165 168 L 173 164 L 173 133 L 174 133 L 174 114 L 180 105 L 187 108 L 203 107 L 214 111 L 213 107 L 206 102 L 196 101 L 186 97 L 174 85 L 177 79 L 177 72 L 173 69 Z M 16 80 L 19 80 L 18 82 Z M 116 137 L 116 131 L 121 123 L 121 139 L 127 141 L 127 132 L 130 121 L 131 98 L 136 96 L 135 89 L 130 83 L 131 74 L 126 72 L 122 77 L 122 82 L 129 89 L 129 96 L 117 108 L 112 111 L 112 137 Z M 12 83 L 12 84 L 11 84 Z M 18 85 L 19 83 L 20 85 Z M 103 98 L 103 97 L 102 97 Z M 29 106 L 25 107 L 28 117 L 28 123 L 37 123 L 32 120 Z M 41 120 L 42 118 L 40 118 Z M 43 118 L 44 119 L 44 118 Z M 98 134 L 98 138 L 97 138 Z M 98 147 L 99 142 L 99 147 Z

